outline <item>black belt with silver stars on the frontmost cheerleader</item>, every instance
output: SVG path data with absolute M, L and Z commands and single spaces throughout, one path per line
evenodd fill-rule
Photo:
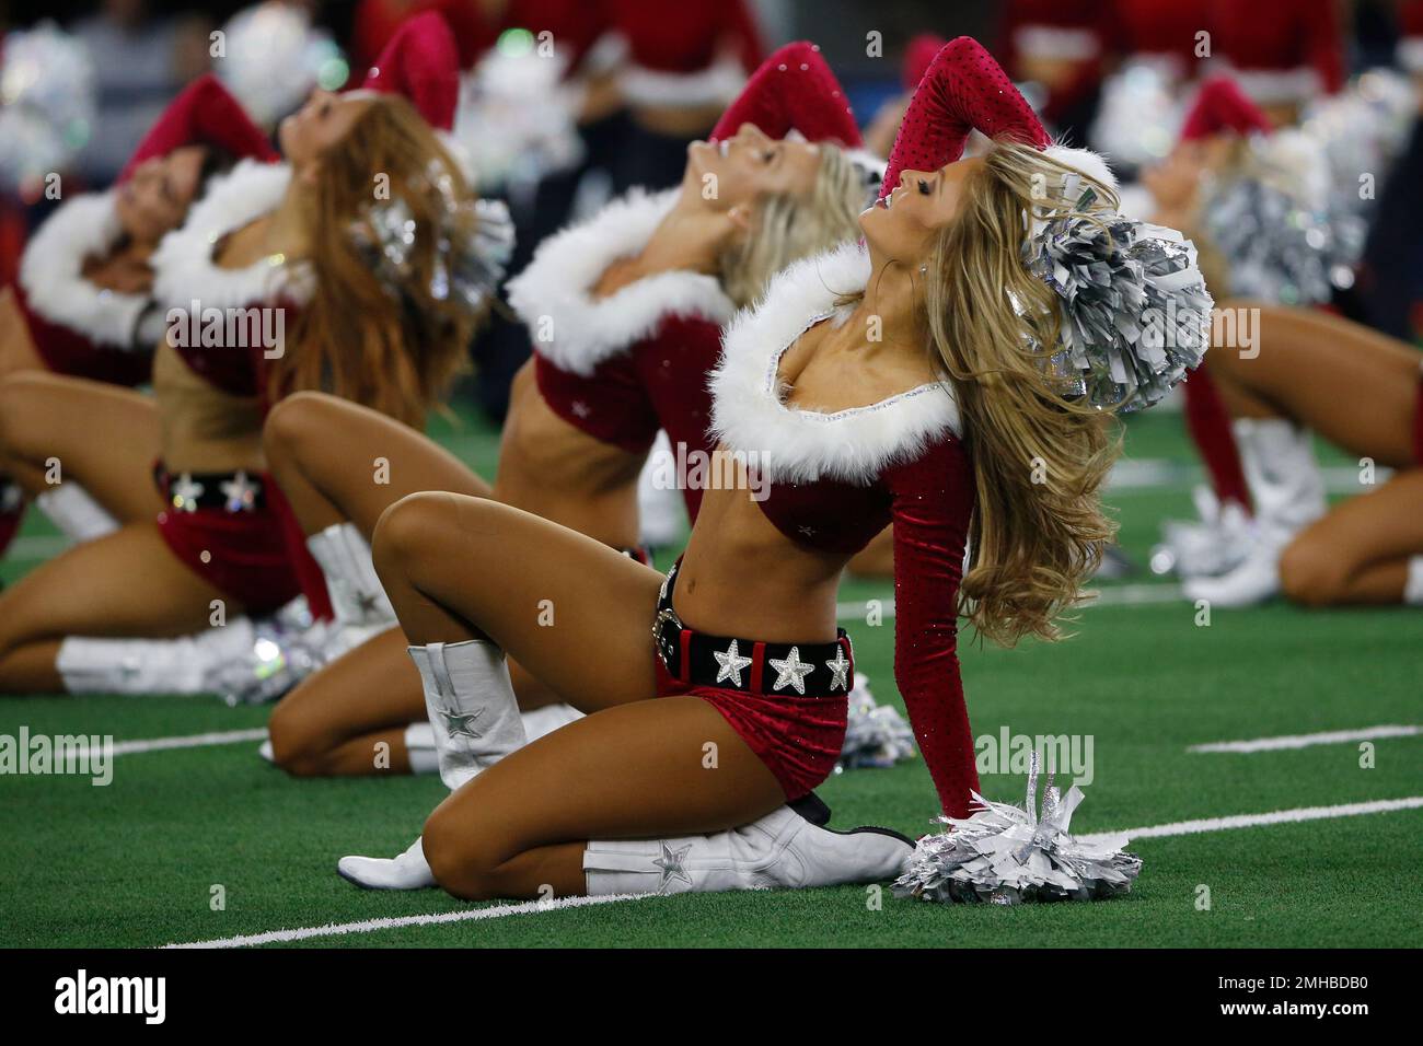
M 680 561 L 679 564 L 680 565 Z M 667 675 L 687 686 L 793 697 L 842 697 L 855 680 L 855 655 L 845 629 L 832 643 L 763 643 L 707 636 L 672 609 L 677 566 L 662 582 L 652 638 Z

